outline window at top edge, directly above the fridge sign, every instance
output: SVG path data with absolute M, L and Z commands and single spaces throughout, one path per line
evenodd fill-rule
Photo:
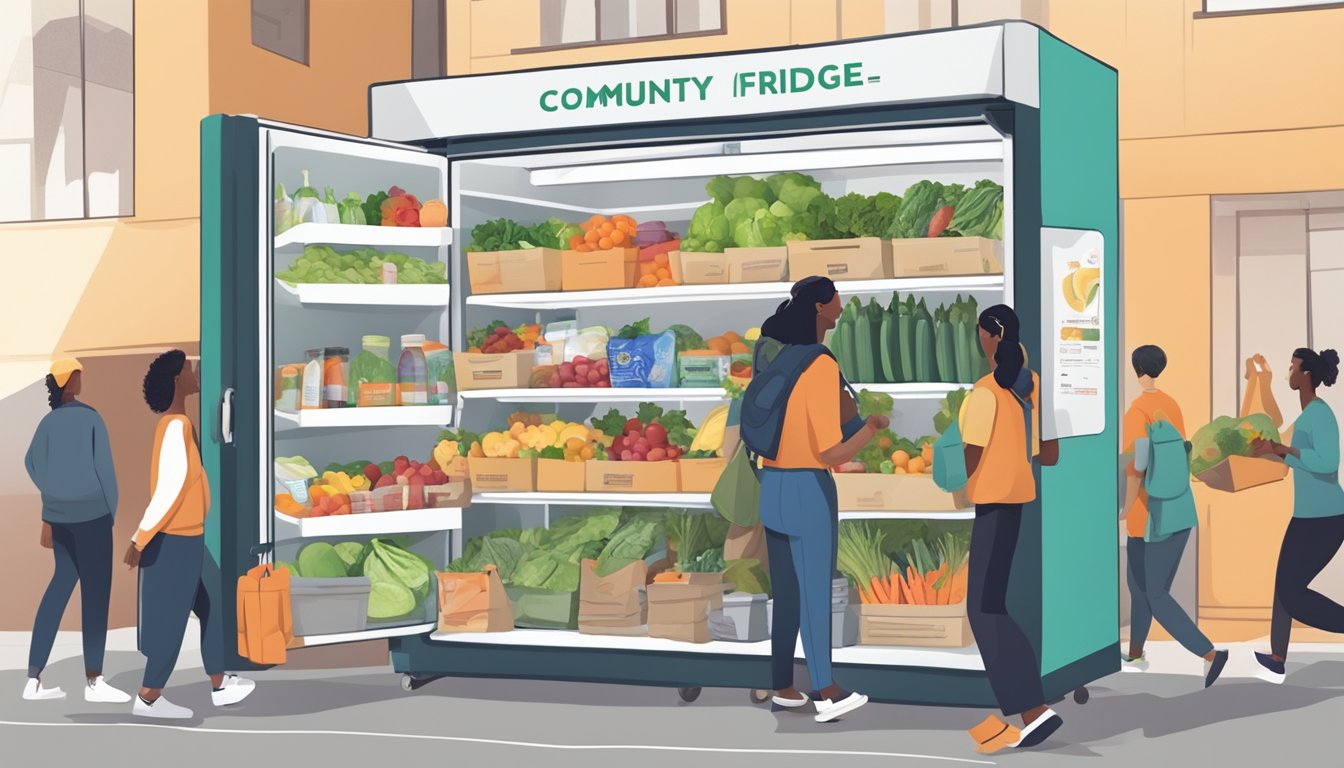
M 724 31 L 724 0 L 540 0 L 542 48 Z

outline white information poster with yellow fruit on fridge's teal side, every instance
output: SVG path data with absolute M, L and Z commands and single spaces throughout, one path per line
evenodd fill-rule
M 1042 437 L 1079 437 L 1106 429 L 1106 327 L 1099 231 L 1040 230 Z

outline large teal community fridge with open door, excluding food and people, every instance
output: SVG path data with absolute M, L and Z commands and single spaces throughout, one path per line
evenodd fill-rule
M 1011 582 L 1011 608 L 1039 654 L 1047 694 L 1083 691 L 1118 668 L 1117 472 L 1120 230 L 1116 71 L 1038 27 L 1004 23 L 778 50 L 644 59 L 508 74 L 379 83 L 372 139 L 212 116 L 203 122 L 202 352 L 204 457 L 214 488 L 208 537 L 226 605 L 258 558 L 293 560 L 314 539 L 391 537 L 434 562 L 493 527 L 548 525 L 586 506 L 707 507 L 691 494 L 477 494 L 464 516 L 411 512 L 290 519 L 273 511 L 273 463 L 314 467 L 425 456 L 438 429 L 482 432 L 516 409 L 570 420 L 613 402 L 680 404 L 692 421 L 714 390 L 487 390 L 454 406 L 282 413 L 277 370 L 309 348 L 366 335 L 425 334 L 465 350 L 466 331 L 575 319 L 620 327 L 689 323 L 710 336 L 747 328 L 789 282 L 581 292 L 473 293 L 465 245 L 477 225 L 626 213 L 685 231 L 718 175 L 800 171 L 832 196 L 903 194 L 922 179 L 1004 187 L 999 274 L 914 273 L 841 281 L 847 297 L 894 291 L 931 304 L 970 295 L 1008 303 L 1043 378 L 1043 436 L 1058 467 L 1039 469 Z M 302 174 L 310 179 L 305 182 Z M 360 198 L 398 184 L 448 202 L 449 227 L 292 225 L 300 184 Z M 306 191 L 305 191 L 306 194 Z M 312 213 L 306 214 L 312 218 Z M 398 231 L 401 230 L 401 231 Z M 449 286 L 290 285 L 277 270 L 308 247 L 396 250 L 441 262 Z M 970 383 L 970 382 L 962 382 Z M 956 386 L 956 385 L 953 385 Z M 952 387 L 894 385 L 894 424 L 927 433 Z M 622 401 L 621 397 L 625 395 Z M 520 405 L 524 404 L 524 405 Z M 598 410 L 601 409 L 601 410 Z M 383 410 L 383 414 L 370 412 Z M 905 422 L 910 422 L 900 429 Z M 880 516 L 864 512 L 859 516 Z M 855 516 L 843 514 L 843 516 Z M 911 518 L 918 514 L 902 512 Z M 972 512 L 923 515 L 969 519 Z M 363 518 L 363 519 L 359 519 Z M 383 639 L 407 687 L 437 677 L 766 689 L 769 643 L 689 644 L 517 629 L 435 632 L 433 594 L 399 620 L 306 636 L 301 644 Z M 228 612 L 226 612 L 228 613 Z M 233 619 L 215 631 L 233 646 Z M 976 647 L 852 646 L 837 679 L 878 699 L 993 703 Z M 801 655 L 800 655 L 801 659 Z M 242 662 L 239 662 L 242 663 Z M 758 691 L 759 693 L 759 691 Z

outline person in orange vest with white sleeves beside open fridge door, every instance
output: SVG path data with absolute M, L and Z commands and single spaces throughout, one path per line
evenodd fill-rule
M 145 402 L 163 414 L 155 429 L 155 455 L 149 484 L 153 496 L 126 550 L 125 562 L 140 566 L 140 650 L 145 677 L 133 713 L 140 717 L 185 720 L 192 712 L 163 697 L 168 677 L 177 664 L 187 616 L 200 620 L 200 655 L 210 675 L 215 706 L 238 703 L 255 683 L 223 670 L 219 604 L 202 580 L 206 561 L 206 514 L 210 482 L 200 464 L 196 432 L 187 417 L 187 398 L 200 391 L 194 366 L 181 350 L 164 352 L 145 374 Z

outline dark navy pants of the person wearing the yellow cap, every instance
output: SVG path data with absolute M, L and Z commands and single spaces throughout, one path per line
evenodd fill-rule
M 85 671 L 99 674 L 108 646 L 108 603 L 112 600 L 112 515 L 85 523 L 51 523 L 51 553 L 56 569 L 32 623 L 28 677 L 35 678 L 46 668 L 75 582 L 79 584 Z

